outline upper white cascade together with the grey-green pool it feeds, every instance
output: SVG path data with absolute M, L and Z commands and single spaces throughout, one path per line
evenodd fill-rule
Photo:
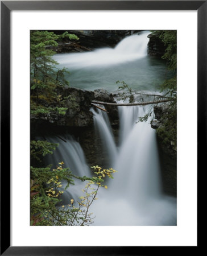
M 165 62 L 147 55 L 148 31 L 123 39 L 115 48 L 101 48 L 92 52 L 60 53 L 53 56 L 70 86 L 94 90 L 104 88 L 113 92 L 116 81 L 125 81 L 135 90 L 155 91 L 170 76 Z

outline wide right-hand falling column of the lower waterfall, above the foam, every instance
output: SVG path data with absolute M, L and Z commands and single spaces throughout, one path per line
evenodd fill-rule
M 121 146 L 113 161 L 119 181 L 114 180 L 111 186 L 115 191 L 121 186 L 122 194 L 134 195 L 131 200 L 136 201 L 160 193 L 155 130 L 148 123 L 138 122 L 145 113 L 143 106 L 119 106 Z

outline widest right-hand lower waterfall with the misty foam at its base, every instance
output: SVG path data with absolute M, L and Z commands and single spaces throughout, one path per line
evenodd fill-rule
M 94 225 L 176 225 L 176 201 L 162 195 L 155 131 L 149 123 L 136 123 L 146 112 L 142 106 L 119 107 L 121 144 L 111 162 L 118 172 L 92 206 Z M 100 133 L 106 139 L 107 132 Z

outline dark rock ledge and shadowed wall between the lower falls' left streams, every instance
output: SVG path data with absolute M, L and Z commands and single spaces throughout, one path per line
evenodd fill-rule
M 93 126 L 93 114 L 90 108 L 93 100 L 114 102 L 113 94 L 104 89 L 96 89 L 94 92 L 78 88 L 59 86 L 56 90 L 59 95 L 59 105 L 68 108 L 65 115 L 57 112 L 48 114 L 31 115 L 31 138 L 36 136 L 71 134 L 80 142 L 89 166 L 97 163 L 103 168 L 108 168 L 109 159 L 107 159 L 106 150 L 102 148 L 101 138 L 96 136 Z M 40 100 L 39 104 L 53 108 L 55 102 L 48 105 L 47 101 Z M 96 109 L 96 108 L 95 108 Z M 114 106 L 107 106 L 109 118 L 113 120 L 113 132 L 118 134 L 118 109 Z M 62 138 L 63 139 L 63 138 Z M 46 140 L 46 138 L 45 138 Z

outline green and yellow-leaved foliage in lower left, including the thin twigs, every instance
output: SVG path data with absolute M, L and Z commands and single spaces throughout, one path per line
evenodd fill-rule
M 31 157 L 39 160 L 39 156 L 52 154 L 57 144 L 47 141 L 31 141 Z M 55 169 L 51 166 L 46 168 L 37 168 L 31 166 L 31 184 L 30 184 L 30 215 L 31 225 L 39 226 L 72 226 L 89 225 L 93 223 L 94 217 L 89 213 L 90 205 L 97 200 L 97 192 L 100 187 L 107 189 L 104 185 L 105 177 L 113 179 L 112 168 L 109 170 L 99 166 L 93 166 L 93 177 L 78 177 L 73 175 L 69 168 L 63 168 L 64 163 L 60 162 Z M 71 199 L 71 204 L 62 205 L 61 195 L 65 189 L 74 185 L 74 179 L 87 181 L 83 195 L 79 200 Z M 62 181 L 66 181 L 63 187 Z

